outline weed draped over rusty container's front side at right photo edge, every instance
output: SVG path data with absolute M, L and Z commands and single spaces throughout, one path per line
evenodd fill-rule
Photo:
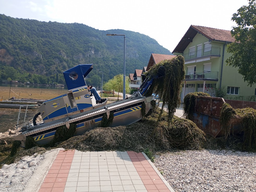
M 231 123 L 239 119 L 242 126 L 243 142 L 241 148 L 256 151 L 256 110 L 252 108 L 233 109 L 229 104 L 222 105 L 220 123 L 227 138 L 230 135 Z

